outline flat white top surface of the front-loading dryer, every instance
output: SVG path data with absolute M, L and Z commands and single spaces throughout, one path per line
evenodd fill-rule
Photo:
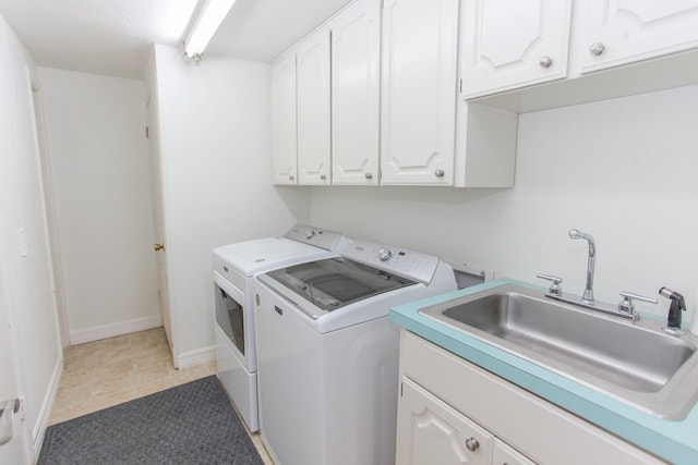
M 285 237 L 257 238 L 214 248 L 216 258 L 244 276 L 328 254 L 325 249 Z

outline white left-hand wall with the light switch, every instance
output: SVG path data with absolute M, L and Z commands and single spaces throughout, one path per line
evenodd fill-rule
M 9 310 L 12 325 L 10 332 L 16 354 L 16 364 L 8 363 L 7 357 L 12 355 L 0 351 L 3 359 L 0 365 L 5 368 L 17 366 L 15 376 L 0 374 L 0 396 L 13 391 L 8 384 L 16 379 L 14 389 L 26 397 L 27 413 L 26 420 L 19 426 L 19 436 L 24 433 L 31 451 L 32 443 L 35 448 L 40 445 L 58 388 L 62 356 L 52 293 L 33 97 L 27 76 L 27 70 L 34 65 L 2 16 L 0 56 L 0 280 L 3 281 L 0 283 L 3 294 L 0 307 L 3 307 L 2 311 Z M 26 232 L 24 256 L 20 230 Z M 3 331 L 3 334 L 7 332 Z M 4 454 L 5 451 L 0 453 Z M 27 463 L 33 458 L 27 455 L 32 455 L 32 452 L 15 449 L 11 460 Z M 2 455 L 2 458 L 8 458 L 8 455 Z

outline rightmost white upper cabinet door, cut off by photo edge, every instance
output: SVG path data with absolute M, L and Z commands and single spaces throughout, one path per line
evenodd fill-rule
M 587 0 L 581 71 L 698 47 L 698 0 Z

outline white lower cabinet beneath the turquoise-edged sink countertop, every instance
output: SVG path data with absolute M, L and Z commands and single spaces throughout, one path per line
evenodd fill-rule
M 402 329 L 396 463 L 663 464 Z

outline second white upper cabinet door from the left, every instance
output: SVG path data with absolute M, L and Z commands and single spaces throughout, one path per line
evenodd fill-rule
M 321 29 L 296 49 L 298 183 L 329 185 L 329 29 Z

